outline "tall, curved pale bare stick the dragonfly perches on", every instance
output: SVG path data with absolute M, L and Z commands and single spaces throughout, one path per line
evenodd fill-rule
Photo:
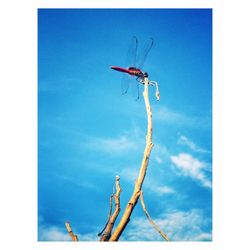
M 121 236 L 122 232 L 124 231 L 126 225 L 128 224 L 128 222 L 130 220 L 130 216 L 131 216 L 133 209 L 134 209 L 134 207 L 135 207 L 135 205 L 140 197 L 140 194 L 141 194 L 141 188 L 142 188 L 144 178 L 146 176 L 150 152 L 153 148 L 153 143 L 152 143 L 152 112 L 151 112 L 149 98 L 148 98 L 148 78 L 147 77 L 144 77 L 143 97 L 144 97 L 144 102 L 145 102 L 146 111 L 147 111 L 148 128 L 147 128 L 147 135 L 146 135 L 146 146 L 145 146 L 144 155 L 143 155 L 143 159 L 142 159 L 142 163 L 141 163 L 141 168 L 140 168 L 138 178 L 135 182 L 134 192 L 133 192 L 133 194 L 128 202 L 128 205 L 124 211 L 124 214 L 123 214 L 117 228 L 113 232 L 109 241 L 118 241 L 119 237 Z

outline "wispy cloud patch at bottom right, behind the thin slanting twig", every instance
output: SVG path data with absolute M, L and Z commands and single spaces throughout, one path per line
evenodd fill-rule
M 150 213 L 150 211 L 149 211 Z M 201 210 L 165 212 L 154 222 L 168 235 L 171 241 L 211 241 L 212 235 L 207 227 L 208 220 Z M 131 221 L 122 240 L 127 241 L 161 241 L 146 217 L 137 217 Z

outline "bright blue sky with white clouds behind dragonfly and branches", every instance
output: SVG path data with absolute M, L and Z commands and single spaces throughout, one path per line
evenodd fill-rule
M 172 241 L 212 239 L 212 12 L 210 9 L 38 11 L 38 239 L 96 241 L 115 176 L 121 213 L 145 146 L 143 98 L 121 95 L 131 37 L 155 44 L 144 70 L 153 142 L 144 199 Z M 142 89 L 140 89 L 140 94 Z M 118 220 L 119 221 L 118 217 Z M 120 240 L 158 241 L 138 203 Z

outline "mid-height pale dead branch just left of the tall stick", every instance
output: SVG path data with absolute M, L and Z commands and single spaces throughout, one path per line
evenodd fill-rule
M 113 229 L 115 221 L 116 221 L 116 218 L 119 215 L 119 212 L 121 210 L 121 208 L 120 208 L 120 194 L 121 194 L 122 190 L 120 187 L 120 177 L 119 176 L 116 176 L 115 189 L 116 189 L 116 193 L 111 196 L 114 198 L 114 201 L 115 201 L 115 211 L 112 214 L 112 216 L 110 216 L 111 211 L 112 211 L 110 209 L 108 223 L 107 223 L 107 225 L 105 225 L 106 227 L 105 227 L 104 233 L 102 234 L 100 241 L 108 241 L 109 240 L 109 238 L 111 236 L 112 229 Z M 112 208 L 112 198 L 111 198 L 110 202 L 111 202 L 110 207 Z

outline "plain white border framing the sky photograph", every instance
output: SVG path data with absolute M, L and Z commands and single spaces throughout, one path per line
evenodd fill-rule
M 93 7 L 213 8 L 213 242 L 37 242 L 37 8 Z M 1 248 L 249 249 L 249 23 L 247 1 L 1 3 Z

